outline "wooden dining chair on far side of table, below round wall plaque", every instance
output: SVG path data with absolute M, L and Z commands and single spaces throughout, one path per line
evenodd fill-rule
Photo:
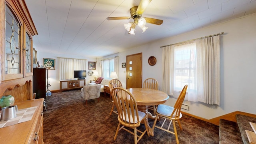
M 158 81 L 154 78 L 147 78 L 143 82 L 143 88 L 158 90 Z M 156 106 L 148 106 L 148 109 L 153 110 L 154 116 L 156 115 Z

